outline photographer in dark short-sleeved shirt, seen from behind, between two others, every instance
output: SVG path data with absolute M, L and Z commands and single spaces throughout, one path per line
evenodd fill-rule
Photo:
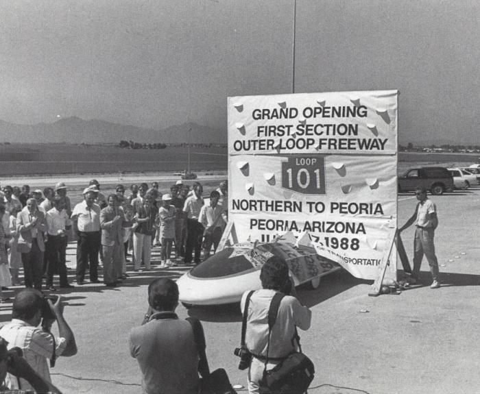
M 139 362 L 143 392 L 196 394 L 198 373 L 202 378 L 209 373 L 200 321 L 178 319 L 178 286 L 171 279 L 149 284 L 148 304 L 142 325 L 130 331 L 130 354 Z

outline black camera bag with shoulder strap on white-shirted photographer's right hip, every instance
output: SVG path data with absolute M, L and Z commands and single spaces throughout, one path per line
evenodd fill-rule
M 263 378 L 259 382 L 260 394 L 305 393 L 315 374 L 315 366 L 313 365 L 313 362 L 302 353 L 300 336 L 298 336 L 296 327 L 293 339 L 298 343 L 299 352 L 292 352 L 287 358 L 285 358 L 285 360 L 280 362 L 273 369 L 267 371 L 270 334 L 276 321 L 280 302 L 284 296 L 283 293 L 276 293 L 270 302 L 268 310 L 267 358 L 265 360 L 265 368 L 263 369 Z

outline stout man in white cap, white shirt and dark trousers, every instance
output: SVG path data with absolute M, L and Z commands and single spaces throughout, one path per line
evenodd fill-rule
M 98 280 L 98 254 L 100 250 L 100 207 L 95 204 L 95 193 L 84 189 L 84 201 L 78 203 L 72 212 L 73 227 L 78 234 L 77 241 L 77 284 L 84 284 L 86 267 L 90 265 L 90 282 Z

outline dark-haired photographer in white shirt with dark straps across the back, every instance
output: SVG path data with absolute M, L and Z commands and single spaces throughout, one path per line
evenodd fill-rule
M 295 352 L 296 345 L 293 337 L 295 327 L 308 330 L 311 322 L 311 310 L 302 306 L 300 301 L 289 295 L 293 284 L 289 278 L 289 269 L 285 261 L 274 256 L 269 258 L 261 269 L 260 280 L 262 289 L 255 291 L 250 298 L 247 311 L 247 329 L 245 332 L 245 345 L 252 354 L 252 362 L 248 370 L 248 391 L 251 394 L 259 393 L 259 382 L 263 378 L 265 360 L 268 360 L 267 369 L 272 369 L 283 361 L 291 352 Z M 270 303 L 277 292 L 285 293 L 278 308 L 276 323 L 270 333 L 268 343 L 268 311 Z M 241 298 L 241 310 L 245 308 L 245 292 Z

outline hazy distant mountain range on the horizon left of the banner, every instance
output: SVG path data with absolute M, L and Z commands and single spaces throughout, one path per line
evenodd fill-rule
M 191 130 L 191 132 L 188 132 Z M 164 130 L 120 125 L 77 116 L 59 119 L 54 123 L 19 125 L 0 120 L 0 143 L 119 143 L 133 140 L 138 143 L 226 143 L 226 130 L 217 130 L 196 123 L 184 123 Z

